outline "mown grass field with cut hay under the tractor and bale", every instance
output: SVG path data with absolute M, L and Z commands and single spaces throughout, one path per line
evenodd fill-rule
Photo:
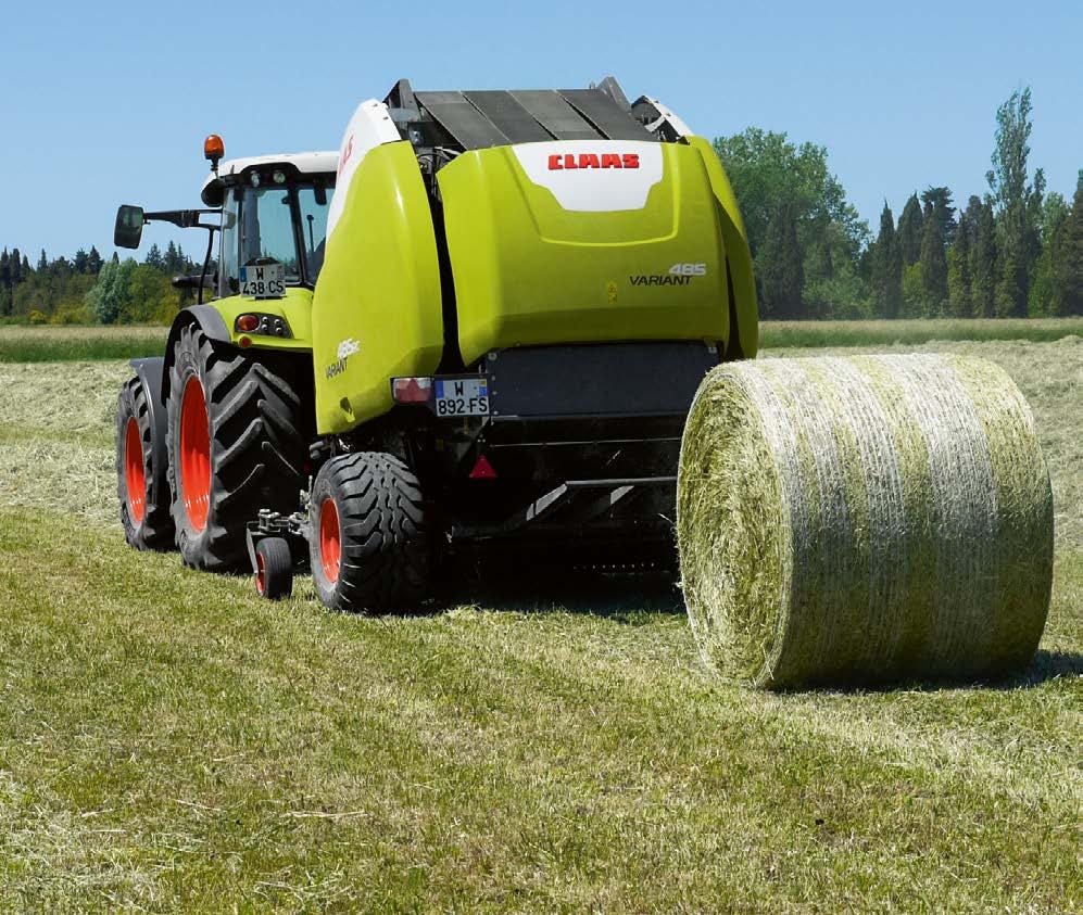
M 1046 450 L 1012 683 L 733 688 L 656 581 L 268 605 L 124 546 L 123 363 L 0 366 L 0 910 L 1080 911 L 1083 340 L 920 348 L 1003 365 Z

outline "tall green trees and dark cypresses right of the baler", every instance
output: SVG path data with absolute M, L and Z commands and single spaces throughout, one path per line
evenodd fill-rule
M 751 127 L 715 140 L 748 233 L 764 318 L 1083 315 L 1083 169 L 1071 201 L 1028 169 L 1030 89 L 996 114 L 987 191 L 915 192 L 873 238 L 827 150 Z

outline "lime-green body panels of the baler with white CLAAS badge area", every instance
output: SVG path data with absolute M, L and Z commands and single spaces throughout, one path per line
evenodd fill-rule
M 593 152 L 565 154 L 558 141 L 463 152 L 437 175 L 439 207 L 410 142 L 367 152 L 338 190 L 347 196 L 313 297 L 322 434 L 388 412 L 391 378 L 432 374 L 452 355 L 468 368 L 508 347 L 630 341 L 755 354 L 748 246 L 709 144 L 583 148 Z M 529 170 L 551 156 L 554 173 L 572 170 L 567 163 L 576 174 Z M 632 161 L 637 174 L 624 165 Z M 648 161 L 656 167 L 644 174 Z M 627 206 L 561 199 L 595 206 L 591 195 L 618 181 Z

